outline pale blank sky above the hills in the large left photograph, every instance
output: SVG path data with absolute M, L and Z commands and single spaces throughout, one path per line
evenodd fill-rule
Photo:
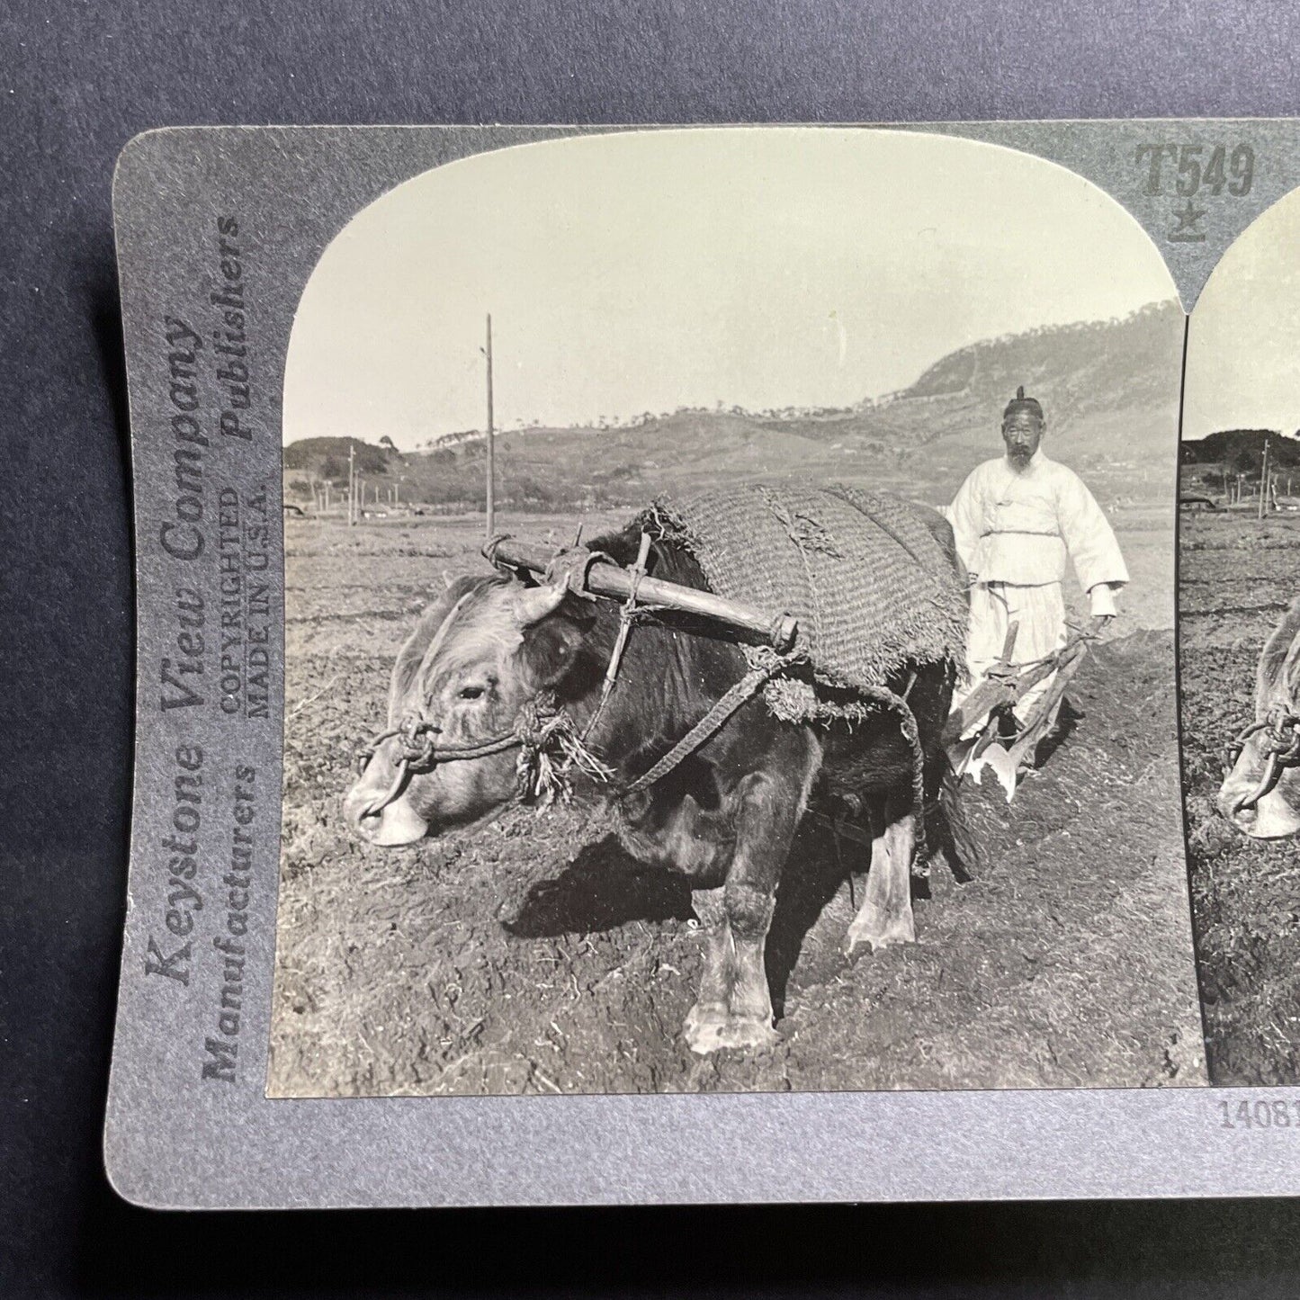
M 410 450 L 495 421 L 852 406 L 982 338 L 1174 296 L 1108 195 L 974 140 L 634 131 L 426 172 L 361 211 L 299 304 L 286 442 Z

